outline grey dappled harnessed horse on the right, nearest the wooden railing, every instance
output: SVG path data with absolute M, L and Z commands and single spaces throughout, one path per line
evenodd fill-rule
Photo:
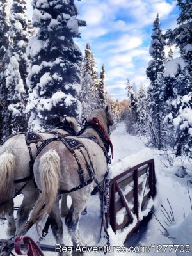
M 97 120 L 102 129 L 99 130 L 97 124 L 92 125 L 93 120 Z M 109 125 L 113 125 L 108 107 L 106 109 L 95 109 L 92 115 L 88 117 L 87 124 L 90 125 L 84 129 L 83 134 L 75 137 L 79 143 L 84 145 L 81 150 L 75 150 L 84 176 L 84 186 L 80 189 L 68 193 L 68 191 L 77 188 L 81 184 L 81 179 L 78 174 L 79 164 L 77 164 L 76 158 L 62 141 L 51 141 L 42 148 L 42 151 L 35 159 L 34 175 L 41 193 L 31 213 L 30 220 L 38 224 L 48 213 L 51 218 L 52 232 L 56 243 L 59 244 L 63 244 L 63 224 L 60 217 L 58 191 L 60 193 L 62 193 L 61 190 L 67 191 L 72 198 L 72 205 L 65 218 L 65 224 L 72 237 L 72 242 L 82 245 L 78 234 L 79 217 L 84 207 L 86 207 L 93 186 L 95 186 L 93 179 L 86 184 L 86 181 L 90 180 L 87 164 L 93 167 L 92 173 L 95 173 L 93 175 L 99 182 L 102 182 L 107 170 L 106 155 L 103 149 L 106 142 L 104 140 L 106 138 L 109 140 Z M 83 138 L 87 136 L 93 136 L 99 143 L 90 138 Z M 42 205 L 45 205 L 45 207 L 43 208 Z

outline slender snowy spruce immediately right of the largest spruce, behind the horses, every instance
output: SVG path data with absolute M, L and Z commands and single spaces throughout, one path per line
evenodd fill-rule
M 86 44 L 83 65 L 81 67 L 81 92 L 79 95 L 83 116 L 90 115 L 93 109 L 99 106 L 98 79 L 96 74 L 91 45 Z

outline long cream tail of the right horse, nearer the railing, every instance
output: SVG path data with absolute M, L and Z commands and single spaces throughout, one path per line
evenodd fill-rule
M 40 183 L 42 191 L 31 214 L 31 220 L 38 223 L 51 211 L 60 186 L 60 157 L 49 150 L 40 158 Z

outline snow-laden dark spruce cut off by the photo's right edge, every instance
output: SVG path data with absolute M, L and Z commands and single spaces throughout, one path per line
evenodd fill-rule
M 171 44 L 180 49 L 180 58 L 166 66 L 166 99 L 172 100 L 168 115 L 177 130 L 177 156 L 191 157 L 192 147 L 192 9 L 191 0 L 178 0 L 177 28 L 166 33 Z

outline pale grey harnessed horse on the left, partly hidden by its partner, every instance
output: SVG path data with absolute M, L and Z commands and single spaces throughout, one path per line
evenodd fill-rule
M 77 132 L 77 123 L 74 118 L 67 117 L 67 120 L 61 120 L 60 124 L 64 125 L 63 129 L 58 127 L 53 131 L 58 132 L 58 134 L 69 134 L 65 131 L 65 126 L 70 125 L 70 127 Z M 56 135 L 46 132 L 36 132 L 43 140 L 54 137 Z M 38 146 L 40 145 L 39 142 Z M 33 159 L 36 156 L 36 145 L 35 143 L 30 144 Z M 15 134 L 8 140 L 6 140 L 0 148 L 0 218 L 6 218 L 8 220 L 8 235 L 12 236 L 19 232 L 20 228 L 28 220 L 29 212 L 35 204 L 39 190 L 35 188 L 33 179 L 28 180 L 26 186 L 22 189 L 21 193 L 24 195 L 22 204 L 17 211 L 17 223 L 15 223 L 15 218 L 13 216 L 13 196 L 15 195 L 15 189 L 19 190 L 24 186 L 25 182 L 14 183 L 14 180 L 23 179 L 31 175 L 29 161 L 31 160 L 29 156 L 29 150 L 26 144 L 25 134 Z M 62 197 L 62 205 L 67 205 L 67 196 Z M 6 203 L 5 203 L 6 202 Z M 65 208 L 66 209 L 66 208 Z M 67 209 L 63 210 L 62 215 L 67 214 Z M 17 230 L 16 230 L 17 225 Z

